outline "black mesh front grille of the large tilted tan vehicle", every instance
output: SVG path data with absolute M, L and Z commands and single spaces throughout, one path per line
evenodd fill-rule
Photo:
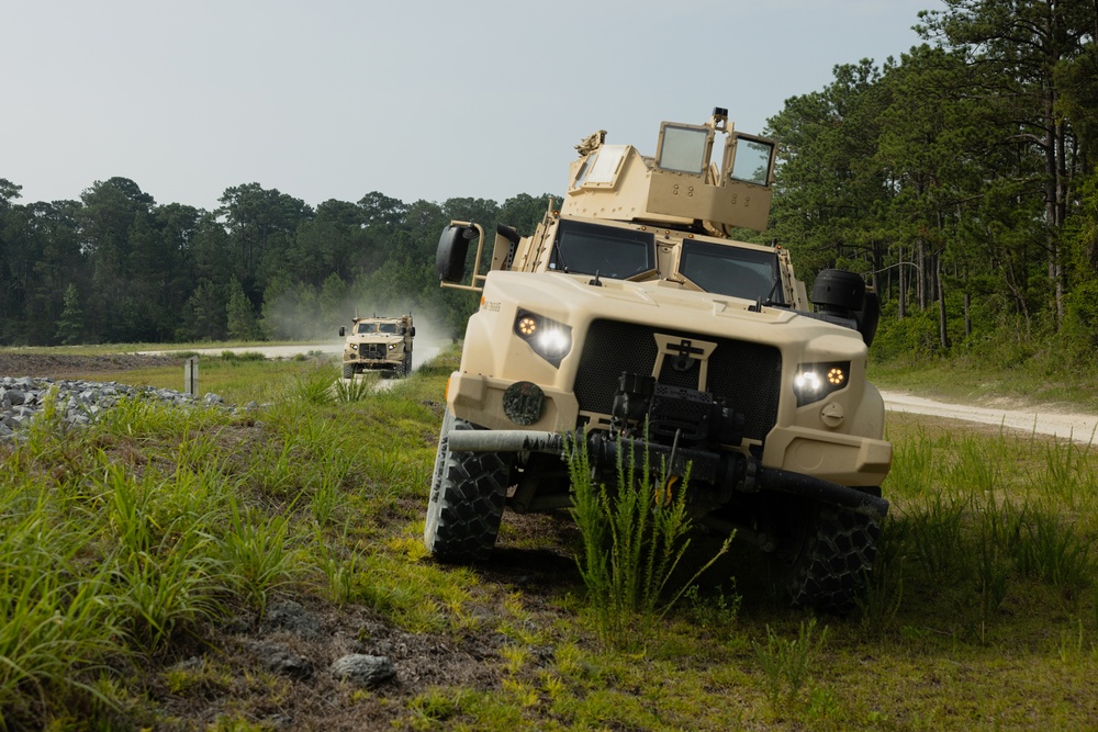
M 777 421 L 782 388 L 782 353 L 772 346 L 731 338 L 703 336 L 686 330 L 653 328 L 650 325 L 595 320 L 591 324 L 580 368 L 575 375 L 575 397 L 582 412 L 610 414 L 618 378 L 623 371 L 652 374 L 660 356 L 654 334 L 675 340 L 705 340 L 717 344 L 709 357 L 705 391 L 725 406 L 744 416 L 743 436 L 762 440 Z M 663 356 L 660 383 L 680 388 L 698 388 L 699 364 L 677 356 Z M 677 363 L 679 368 L 674 368 Z

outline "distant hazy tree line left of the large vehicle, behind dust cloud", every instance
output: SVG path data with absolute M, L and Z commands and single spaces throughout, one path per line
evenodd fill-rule
M 330 338 L 357 309 L 460 328 L 475 299 L 442 290 L 435 245 L 451 219 L 533 230 L 548 194 L 411 204 L 371 192 L 315 209 L 258 183 L 205 211 L 157 204 L 126 178 L 79 201 L 21 204 L 0 179 L 0 344 Z

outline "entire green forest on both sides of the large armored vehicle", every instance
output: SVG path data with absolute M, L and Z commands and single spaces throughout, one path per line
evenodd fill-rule
M 944 5 L 921 45 L 837 66 L 769 120 L 771 226 L 739 238 L 789 249 L 809 286 L 861 273 L 884 304 L 875 358 L 1098 365 L 1098 2 Z M 528 234 L 553 198 L 313 207 L 250 182 L 206 211 L 126 178 L 78 201 L 20 190 L 0 178 L 4 346 L 332 337 L 355 307 L 460 335 L 475 303 L 438 286 L 441 228 Z

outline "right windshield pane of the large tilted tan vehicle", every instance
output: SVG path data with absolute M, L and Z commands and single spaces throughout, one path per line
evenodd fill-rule
M 706 292 L 785 304 L 777 255 L 771 251 L 687 240 L 679 272 Z

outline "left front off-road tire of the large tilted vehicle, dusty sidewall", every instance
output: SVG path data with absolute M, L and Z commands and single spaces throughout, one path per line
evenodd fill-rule
M 423 540 L 435 559 L 464 563 L 488 559 L 492 553 L 514 458 L 500 452 L 451 452 L 447 436 L 457 429 L 475 426 L 453 418 L 447 410 L 435 455 Z

